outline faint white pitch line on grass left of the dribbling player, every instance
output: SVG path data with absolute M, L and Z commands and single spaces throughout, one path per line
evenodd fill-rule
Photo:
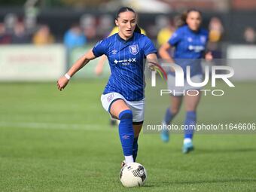
M 105 130 L 99 124 L 68 124 L 68 123 L 40 123 L 40 122 L 1 122 L 0 128 L 20 127 L 49 130 Z M 108 129 L 106 129 L 108 130 Z

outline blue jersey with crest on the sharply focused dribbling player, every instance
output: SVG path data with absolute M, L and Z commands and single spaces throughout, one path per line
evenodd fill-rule
M 93 47 L 95 56 L 108 56 L 111 76 L 104 93 L 120 93 L 128 101 L 144 98 L 143 59 L 150 53 L 157 53 L 152 41 L 145 35 L 134 32 L 127 41 L 116 33 Z

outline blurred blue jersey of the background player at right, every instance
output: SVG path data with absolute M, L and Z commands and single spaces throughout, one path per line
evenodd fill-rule
M 187 66 L 190 66 L 191 76 L 203 73 L 200 59 L 204 56 L 208 36 L 205 29 L 194 32 L 187 25 L 181 26 L 172 34 L 168 42 L 175 47 L 174 60 L 182 67 L 184 75 Z

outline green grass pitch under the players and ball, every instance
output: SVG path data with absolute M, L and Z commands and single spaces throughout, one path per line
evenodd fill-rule
M 123 160 L 117 127 L 100 103 L 105 81 L 0 84 L 0 191 L 255 191 L 253 134 L 196 135 L 196 150 L 181 154 L 182 136 L 165 144 L 142 133 L 144 187 L 120 184 Z M 201 123 L 256 123 L 254 82 L 227 96 L 204 97 Z M 184 113 L 175 123 L 182 123 Z

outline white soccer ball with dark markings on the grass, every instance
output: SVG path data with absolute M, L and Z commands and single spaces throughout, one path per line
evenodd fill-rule
M 124 187 L 141 187 L 147 177 L 146 169 L 139 163 L 128 163 L 120 170 L 120 181 Z

